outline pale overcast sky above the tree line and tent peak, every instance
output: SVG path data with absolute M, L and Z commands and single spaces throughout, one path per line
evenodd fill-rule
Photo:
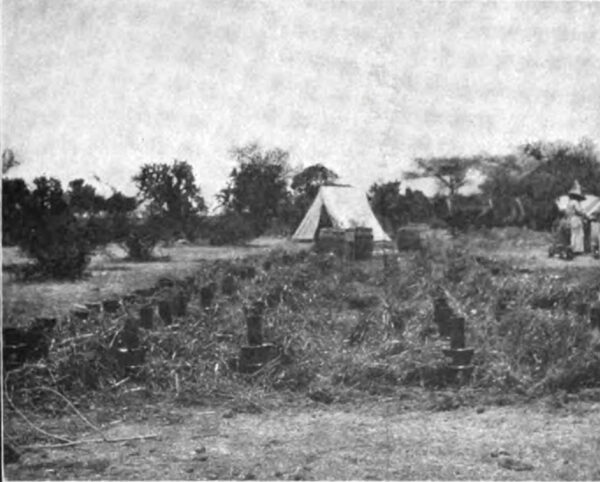
M 411 159 L 600 144 L 600 3 L 4 0 L 11 174 L 194 166 L 250 141 L 367 188 Z

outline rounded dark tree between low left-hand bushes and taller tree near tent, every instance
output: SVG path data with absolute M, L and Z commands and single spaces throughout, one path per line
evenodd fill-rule
M 193 219 L 206 209 L 192 166 L 186 161 L 145 164 L 133 181 L 140 197 L 149 201 L 150 215 L 161 218 L 173 235 L 188 236 Z

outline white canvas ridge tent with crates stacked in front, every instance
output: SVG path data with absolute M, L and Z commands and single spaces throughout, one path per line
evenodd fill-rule
M 367 196 L 350 186 L 321 186 L 317 197 L 292 236 L 294 241 L 312 241 L 325 209 L 334 228 L 371 228 L 373 241 L 390 241 L 371 211 Z

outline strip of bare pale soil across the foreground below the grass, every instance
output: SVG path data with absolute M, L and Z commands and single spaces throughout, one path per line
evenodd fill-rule
M 168 415 L 165 416 L 165 413 Z M 59 423 L 59 422 L 55 422 Z M 60 421 L 63 428 L 68 425 Z M 8 479 L 598 480 L 600 403 L 402 410 L 398 402 L 261 414 L 156 406 L 106 423 L 121 443 L 45 449 Z M 98 435 L 90 432 L 88 438 Z

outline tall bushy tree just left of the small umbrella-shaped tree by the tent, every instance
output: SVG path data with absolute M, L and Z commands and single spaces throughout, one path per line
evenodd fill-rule
M 255 234 L 281 218 L 289 205 L 287 177 L 289 154 L 279 148 L 264 150 L 258 144 L 235 148 L 237 166 L 229 184 L 218 194 L 226 210 L 247 215 Z

